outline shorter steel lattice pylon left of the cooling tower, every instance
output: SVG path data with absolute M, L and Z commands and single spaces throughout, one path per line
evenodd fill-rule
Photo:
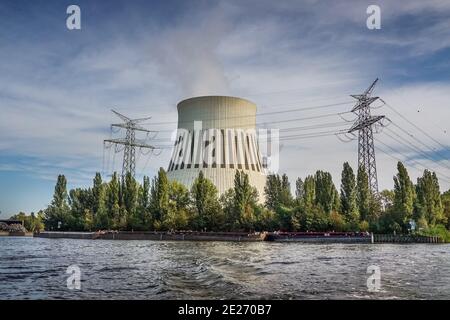
M 125 138 L 119 139 L 106 139 L 104 143 L 111 143 L 116 145 L 123 145 L 123 163 L 122 163 L 122 177 L 125 177 L 126 174 L 130 173 L 133 177 L 136 174 L 136 147 L 137 148 L 146 148 L 150 150 L 154 150 L 155 147 L 146 143 L 145 140 L 136 139 L 136 131 L 141 132 L 155 132 L 151 130 L 147 130 L 141 125 L 139 122 L 150 119 L 151 117 L 139 118 L 139 119 L 130 119 L 123 114 L 118 113 L 117 111 L 111 110 L 114 114 L 116 114 L 120 119 L 122 119 L 123 123 L 115 123 L 111 125 L 111 128 L 118 127 L 122 129 L 126 129 Z

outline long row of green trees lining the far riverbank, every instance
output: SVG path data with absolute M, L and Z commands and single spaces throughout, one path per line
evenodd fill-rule
M 441 194 L 434 172 L 425 170 L 414 184 L 399 162 L 394 189 L 371 194 L 364 168 L 357 174 L 344 163 L 340 192 L 331 174 L 317 171 L 295 181 L 271 174 L 264 188 L 264 204 L 236 170 L 234 188 L 219 196 L 202 172 L 191 190 L 169 181 L 160 168 L 150 181 L 138 183 L 131 175 L 100 173 L 93 186 L 67 191 L 59 175 L 51 204 L 37 214 L 11 217 L 31 232 L 47 231 L 164 231 L 213 232 L 371 232 L 411 236 L 438 236 L 450 242 L 450 190 Z

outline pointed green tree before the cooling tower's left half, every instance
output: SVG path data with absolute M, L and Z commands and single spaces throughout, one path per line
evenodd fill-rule
M 217 198 L 216 186 L 200 171 L 195 179 L 191 198 L 195 211 L 194 225 L 197 230 L 219 230 L 223 227 L 223 212 Z

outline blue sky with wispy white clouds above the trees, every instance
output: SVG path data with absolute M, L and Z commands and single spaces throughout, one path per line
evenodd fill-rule
M 80 30 L 66 27 L 72 4 L 81 9 Z M 378 30 L 366 26 L 372 4 L 381 10 Z M 103 148 L 122 134 L 110 130 L 119 121 L 111 109 L 151 116 L 145 126 L 158 131 L 158 145 L 176 128 L 177 102 L 199 95 L 255 102 L 259 127 L 340 123 L 290 135 L 343 130 L 355 117 L 337 113 L 351 110 L 349 95 L 375 78 L 374 94 L 386 104 L 374 103 L 373 113 L 392 121 L 375 134 L 380 189 L 393 187 L 402 160 L 413 181 L 429 168 L 448 190 L 449 58 L 444 0 L 3 0 L 0 217 L 45 208 L 58 174 L 74 188 L 91 185 L 95 172 L 108 179 L 120 171 L 120 153 Z M 263 115 L 296 108 L 307 110 Z M 334 116 L 283 122 L 328 113 Z M 339 188 L 343 162 L 357 164 L 357 141 L 348 140 L 282 141 L 279 172 L 294 184 L 327 170 Z M 138 178 L 167 168 L 170 156 L 169 148 L 141 154 Z

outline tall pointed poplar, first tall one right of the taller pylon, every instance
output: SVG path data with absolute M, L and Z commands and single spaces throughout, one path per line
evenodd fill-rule
M 397 164 L 398 173 L 394 177 L 394 220 L 406 231 L 407 223 L 412 218 L 415 200 L 414 185 L 409 178 L 408 171 L 403 163 Z

